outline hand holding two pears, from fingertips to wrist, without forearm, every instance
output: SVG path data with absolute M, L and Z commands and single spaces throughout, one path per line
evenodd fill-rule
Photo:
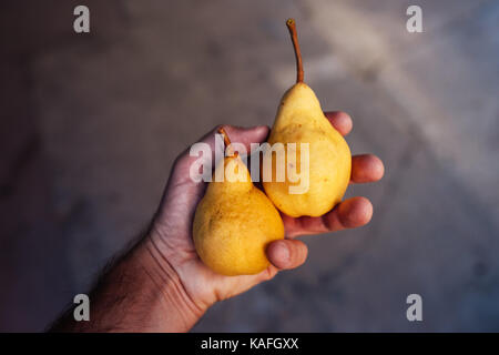
M 328 112 L 327 119 L 343 135 L 352 130 L 352 119 L 344 112 Z M 267 126 L 240 129 L 224 126 L 233 142 L 246 145 L 265 141 Z M 216 129 L 202 141 L 214 152 Z M 190 179 L 190 166 L 197 158 L 181 154 L 173 166 L 160 209 L 153 221 L 149 239 L 159 263 L 177 277 L 180 292 L 189 297 L 192 312 L 203 314 L 212 304 L 237 295 L 258 283 L 275 276 L 279 270 L 302 265 L 307 257 L 307 246 L 296 236 L 340 231 L 365 225 L 373 215 L 373 205 L 365 197 L 353 197 L 336 205 L 320 217 L 289 217 L 282 214 L 286 239 L 275 241 L 267 247 L 271 266 L 257 275 L 223 276 L 203 264 L 196 254 L 192 240 L 192 221 L 195 209 L 204 195 L 206 183 L 195 183 Z M 381 161 L 371 154 L 353 156 L 352 183 L 374 182 L 381 179 Z

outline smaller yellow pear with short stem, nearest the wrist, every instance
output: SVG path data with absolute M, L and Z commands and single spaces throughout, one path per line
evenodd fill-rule
M 223 129 L 225 144 L 231 144 Z M 225 156 L 215 169 L 223 181 L 210 182 L 194 215 L 193 239 L 203 263 L 227 276 L 264 271 L 269 262 L 265 248 L 284 239 L 284 225 L 271 200 L 251 180 L 237 152 Z

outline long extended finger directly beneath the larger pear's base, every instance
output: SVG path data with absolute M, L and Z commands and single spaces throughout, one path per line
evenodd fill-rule
M 286 235 L 295 237 L 359 227 L 369 223 L 371 217 L 373 204 L 366 197 L 352 197 L 340 202 L 323 216 L 293 219 L 283 215 L 283 222 Z

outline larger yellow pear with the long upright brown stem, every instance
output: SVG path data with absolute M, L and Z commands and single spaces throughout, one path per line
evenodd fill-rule
M 287 20 L 286 24 L 295 50 L 297 80 L 284 94 L 268 136 L 271 146 L 275 143 L 284 145 L 285 179 L 276 179 L 278 161 L 275 153 L 267 150 L 264 161 L 272 160 L 272 180 L 265 181 L 264 178 L 263 186 L 285 214 L 293 217 L 320 216 L 342 201 L 350 180 L 352 154 L 345 139 L 324 115 L 314 91 L 303 82 L 296 24 L 294 19 Z M 301 143 L 308 143 L 308 151 L 304 151 Z M 296 169 L 298 174 L 299 166 L 306 171 L 299 171 L 299 179 L 296 179 L 296 174 L 291 175 L 289 168 Z M 293 192 L 296 186 L 305 187 Z

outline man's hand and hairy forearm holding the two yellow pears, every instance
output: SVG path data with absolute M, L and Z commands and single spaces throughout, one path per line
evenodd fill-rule
M 352 130 L 343 112 L 326 113 L 342 134 Z M 263 142 L 267 126 L 225 126 L 231 139 L 246 145 Z M 203 141 L 214 152 L 213 130 Z M 267 246 L 272 265 L 257 275 L 223 276 L 205 266 L 192 240 L 192 221 L 206 184 L 190 179 L 196 160 L 189 151 L 175 161 L 162 202 L 145 237 L 105 271 L 90 294 L 90 322 L 77 322 L 69 308 L 52 325 L 52 332 L 185 332 L 215 302 L 237 295 L 269 280 L 281 270 L 302 265 L 307 246 L 296 236 L 352 229 L 369 222 L 373 205 L 365 197 L 339 203 L 320 217 L 283 216 L 286 239 Z M 352 183 L 381 179 L 381 161 L 374 155 L 352 160 Z

